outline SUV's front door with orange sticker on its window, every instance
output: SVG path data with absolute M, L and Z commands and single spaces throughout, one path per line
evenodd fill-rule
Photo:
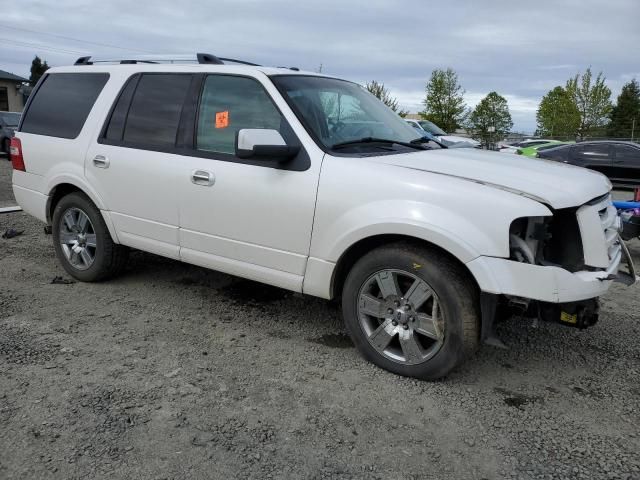
M 235 156 L 236 134 L 243 128 L 278 130 L 288 144 L 299 144 L 305 134 L 287 121 L 281 111 L 291 111 L 268 79 L 263 81 L 225 74 L 204 78 L 195 156 L 184 159 L 177 180 L 180 256 L 301 291 L 323 153 L 312 145 L 284 164 Z

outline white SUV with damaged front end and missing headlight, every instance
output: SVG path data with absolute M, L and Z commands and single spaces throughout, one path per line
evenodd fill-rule
M 585 327 L 635 281 L 603 175 L 416 138 L 345 80 L 198 58 L 82 58 L 31 95 L 13 189 L 73 277 L 137 248 L 341 297 L 367 359 L 426 379 L 497 341 L 501 304 Z

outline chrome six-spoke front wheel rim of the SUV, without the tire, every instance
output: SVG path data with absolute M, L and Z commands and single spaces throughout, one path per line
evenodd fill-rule
M 429 360 L 444 341 L 438 297 L 427 282 L 403 270 L 381 270 L 364 282 L 358 319 L 373 348 L 404 365 Z

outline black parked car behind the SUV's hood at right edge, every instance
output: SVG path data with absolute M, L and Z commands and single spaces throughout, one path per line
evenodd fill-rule
M 618 186 L 640 185 L 640 144 L 634 142 L 580 142 L 540 151 L 538 157 L 590 168 Z

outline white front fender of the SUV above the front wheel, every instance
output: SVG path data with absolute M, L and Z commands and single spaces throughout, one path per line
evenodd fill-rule
M 508 258 L 513 220 L 550 215 L 540 202 L 488 185 L 366 159 L 327 156 L 303 289 L 330 298 L 342 255 L 373 236 L 424 240 L 469 263 L 481 256 Z

